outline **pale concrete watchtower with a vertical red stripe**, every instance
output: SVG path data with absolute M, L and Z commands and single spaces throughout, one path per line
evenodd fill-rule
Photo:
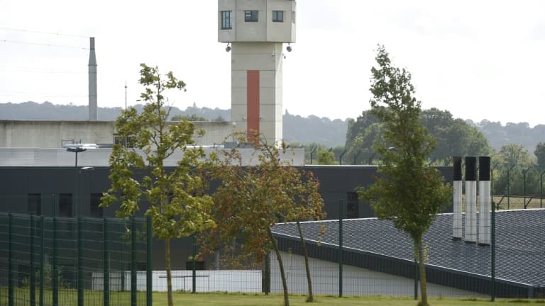
M 268 144 L 282 140 L 282 46 L 295 42 L 295 6 L 294 0 L 218 0 L 218 40 L 231 51 L 234 130 L 258 132 Z

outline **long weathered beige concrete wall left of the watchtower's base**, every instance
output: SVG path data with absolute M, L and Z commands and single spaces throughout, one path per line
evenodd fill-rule
M 232 132 L 228 122 L 195 122 L 195 130 L 204 130 L 199 145 L 224 142 Z M 0 120 L 0 147 L 60 148 L 65 143 L 113 144 L 113 121 Z M 229 139 L 228 139 L 229 140 Z

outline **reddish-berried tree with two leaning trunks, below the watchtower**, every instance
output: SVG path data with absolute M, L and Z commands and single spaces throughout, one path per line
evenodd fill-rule
M 271 227 L 280 222 L 321 220 L 324 202 L 318 192 L 319 183 L 312 172 L 299 170 L 282 161 L 282 148 L 267 145 L 257 136 L 240 139 L 254 145 L 258 160 L 255 166 L 243 166 L 241 152 L 236 148 L 224 152 L 216 178 L 221 182 L 214 193 L 212 215 L 216 222 L 213 232 L 202 237 L 204 251 L 212 252 L 234 239 L 242 241 L 242 250 L 262 261 L 272 247 L 280 266 L 285 305 L 290 305 L 282 256 Z M 307 267 L 309 298 L 313 299 L 312 282 L 304 237 L 299 232 Z

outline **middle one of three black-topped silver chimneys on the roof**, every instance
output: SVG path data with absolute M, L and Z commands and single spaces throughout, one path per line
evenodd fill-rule
M 464 240 L 477 241 L 477 157 L 466 157 L 466 232 Z

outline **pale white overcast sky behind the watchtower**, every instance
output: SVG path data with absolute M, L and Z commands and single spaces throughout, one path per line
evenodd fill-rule
M 168 95 L 172 105 L 230 108 L 231 53 L 217 28 L 216 0 L 0 0 L 0 103 L 87 105 L 94 37 L 99 107 L 124 107 L 125 92 L 129 106 L 138 103 L 145 63 L 187 84 Z M 284 109 L 342 120 L 368 110 L 379 44 L 411 72 L 422 108 L 545 124 L 539 0 L 297 0 Z

